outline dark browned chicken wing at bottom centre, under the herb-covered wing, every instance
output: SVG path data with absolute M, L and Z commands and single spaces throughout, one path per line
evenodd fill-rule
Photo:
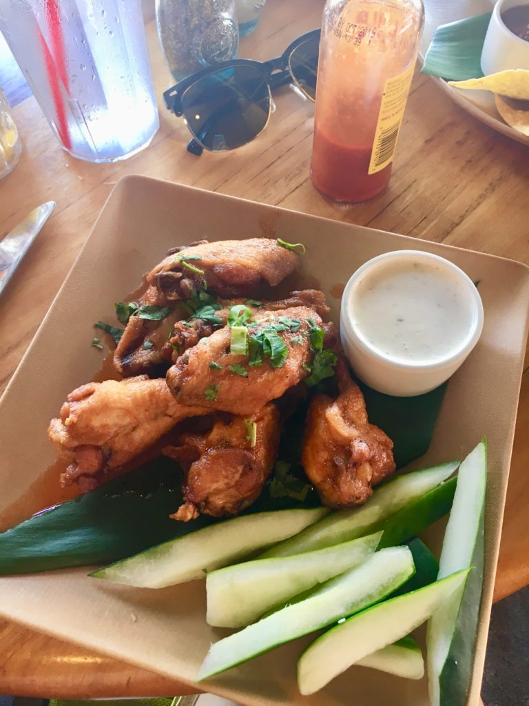
M 279 412 L 269 404 L 253 421 L 255 445 L 247 420 L 226 414 L 208 433 L 183 434 L 180 446 L 164 449 L 186 473 L 185 502 L 171 517 L 187 522 L 199 514 L 237 515 L 257 500 L 276 459 Z

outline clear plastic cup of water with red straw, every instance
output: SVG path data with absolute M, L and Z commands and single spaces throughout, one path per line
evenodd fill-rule
M 159 121 L 140 0 L 0 0 L 0 30 L 71 155 L 111 162 L 152 140 Z

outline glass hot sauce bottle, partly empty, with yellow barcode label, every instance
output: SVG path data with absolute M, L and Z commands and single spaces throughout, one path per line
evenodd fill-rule
M 386 189 L 423 22 L 422 0 L 327 0 L 311 164 L 325 196 Z

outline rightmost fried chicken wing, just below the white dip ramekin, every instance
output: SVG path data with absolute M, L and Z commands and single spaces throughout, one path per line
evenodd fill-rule
M 337 399 L 315 395 L 310 403 L 301 462 L 324 505 L 351 508 L 394 472 L 393 442 L 367 420 L 363 394 L 343 359 L 336 373 Z

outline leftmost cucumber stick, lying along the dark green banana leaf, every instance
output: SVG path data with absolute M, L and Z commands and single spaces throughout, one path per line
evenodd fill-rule
M 327 513 L 327 508 L 311 508 L 233 517 L 116 561 L 90 576 L 147 588 L 204 578 L 205 571 L 281 542 Z

